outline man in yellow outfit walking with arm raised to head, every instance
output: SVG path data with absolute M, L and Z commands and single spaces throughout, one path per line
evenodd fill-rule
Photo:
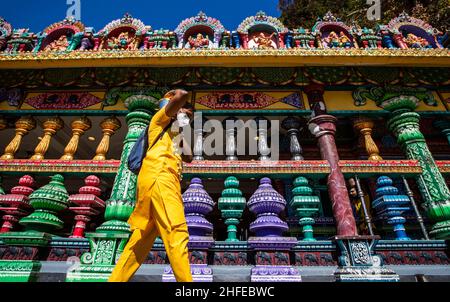
M 175 279 L 192 282 L 189 266 L 189 233 L 181 198 L 182 159 L 174 144 L 177 133 L 167 127 L 178 114 L 192 116 L 183 108 L 188 99 L 184 90 L 168 92 L 162 101 L 167 105 L 152 118 L 149 146 L 137 179 L 137 202 L 128 224 L 131 237 L 114 268 L 109 282 L 126 282 L 133 277 L 150 252 L 156 237 L 161 236 Z M 161 133 L 164 133 L 162 136 Z

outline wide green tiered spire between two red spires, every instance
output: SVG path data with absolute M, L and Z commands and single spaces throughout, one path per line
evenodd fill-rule
M 52 232 L 64 225 L 56 214 L 69 206 L 69 194 L 64 187 L 62 175 L 54 175 L 51 179 L 49 184 L 34 191 L 29 197 L 35 211 L 19 222 L 27 230 Z

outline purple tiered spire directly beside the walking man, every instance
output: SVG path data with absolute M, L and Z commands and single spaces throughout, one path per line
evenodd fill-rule
M 184 212 L 191 236 L 207 236 L 213 230 L 213 225 L 206 220 L 205 215 L 213 210 L 214 201 L 203 189 L 202 180 L 193 178 L 189 188 L 183 193 Z

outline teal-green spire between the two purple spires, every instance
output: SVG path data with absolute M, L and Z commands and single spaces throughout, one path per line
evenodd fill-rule
M 246 201 L 239 190 L 239 180 L 234 177 L 228 177 L 225 182 L 225 189 L 222 192 L 222 197 L 219 198 L 218 206 L 222 212 L 222 217 L 225 219 L 227 227 L 228 238 L 226 241 L 239 241 L 236 237 L 237 225 L 242 212 L 245 209 Z

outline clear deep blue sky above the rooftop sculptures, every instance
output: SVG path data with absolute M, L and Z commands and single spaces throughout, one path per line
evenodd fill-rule
M 66 0 L 2 2 L 0 16 L 14 28 L 30 28 L 33 32 L 64 19 L 68 8 Z M 99 31 L 129 12 L 155 29 L 174 30 L 180 21 L 202 10 L 219 19 L 228 30 L 234 30 L 242 20 L 259 10 L 279 17 L 277 3 L 278 0 L 81 0 L 81 21 Z

